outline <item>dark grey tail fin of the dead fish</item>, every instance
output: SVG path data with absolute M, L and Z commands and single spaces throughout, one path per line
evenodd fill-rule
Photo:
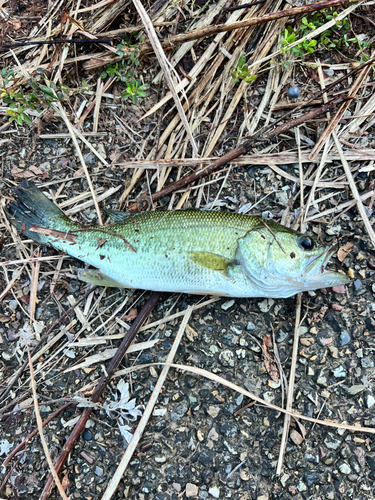
M 17 203 L 10 203 L 5 213 L 9 222 L 24 235 L 40 244 L 49 242 L 48 236 L 31 231 L 32 226 L 62 229 L 69 219 L 35 184 L 23 180 L 17 190 Z

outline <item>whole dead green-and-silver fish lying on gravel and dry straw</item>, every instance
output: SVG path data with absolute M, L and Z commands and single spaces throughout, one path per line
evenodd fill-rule
M 214 210 L 109 211 L 105 226 L 70 220 L 33 182 L 18 187 L 9 221 L 36 243 L 92 268 L 95 285 L 223 297 L 287 298 L 345 285 L 327 269 L 337 250 L 271 220 Z

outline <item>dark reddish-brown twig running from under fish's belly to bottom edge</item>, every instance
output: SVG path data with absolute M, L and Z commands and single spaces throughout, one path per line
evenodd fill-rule
M 97 403 L 100 399 L 100 396 L 104 389 L 106 388 L 108 382 L 111 380 L 115 370 L 117 369 L 118 365 L 120 364 L 122 358 L 124 357 L 126 351 L 128 350 L 130 344 L 133 342 L 135 336 L 137 335 L 139 329 L 141 328 L 142 324 L 146 320 L 146 318 L 149 316 L 153 308 L 156 306 L 158 300 L 161 297 L 161 292 L 152 292 L 151 297 L 148 299 L 146 304 L 144 305 L 143 309 L 141 312 L 138 314 L 136 319 L 134 320 L 134 323 L 126 333 L 123 341 L 121 342 L 116 354 L 112 358 L 106 373 L 103 374 L 102 378 L 100 379 L 98 385 L 96 386 L 92 396 L 91 396 L 91 401 L 93 403 Z M 54 467 L 57 473 L 61 471 L 62 466 L 65 463 L 65 460 L 67 459 L 69 453 L 71 452 L 74 443 L 78 439 L 79 435 L 85 428 L 86 422 L 93 411 L 92 407 L 85 408 L 82 412 L 82 415 L 78 422 L 76 423 L 74 429 L 72 430 L 69 438 L 67 439 L 63 451 L 57 458 Z M 39 498 L 39 500 L 46 500 L 51 492 L 53 486 L 53 477 L 51 475 L 48 476 L 46 484 L 44 486 L 43 492 Z

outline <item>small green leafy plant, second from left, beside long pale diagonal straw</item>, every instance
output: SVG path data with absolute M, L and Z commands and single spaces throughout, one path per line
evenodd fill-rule
M 130 98 L 133 104 L 137 103 L 138 97 L 146 97 L 145 90 L 147 89 L 147 85 L 142 84 L 140 80 L 136 79 L 137 68 L 141 64 L 139 54 L 140 43 L 142 42 L 143 37 L 140 37 L 139 42 L 135 44 L 131 36 L 126 36 L 117 45 L 116 54 L 120 58 L 120 62 L 109 64 L 100 75 L 103 79 L 108 76 L 116 76 L 118 80 L 125 83 L 126 90 L 121 97 L 123 99 Z

